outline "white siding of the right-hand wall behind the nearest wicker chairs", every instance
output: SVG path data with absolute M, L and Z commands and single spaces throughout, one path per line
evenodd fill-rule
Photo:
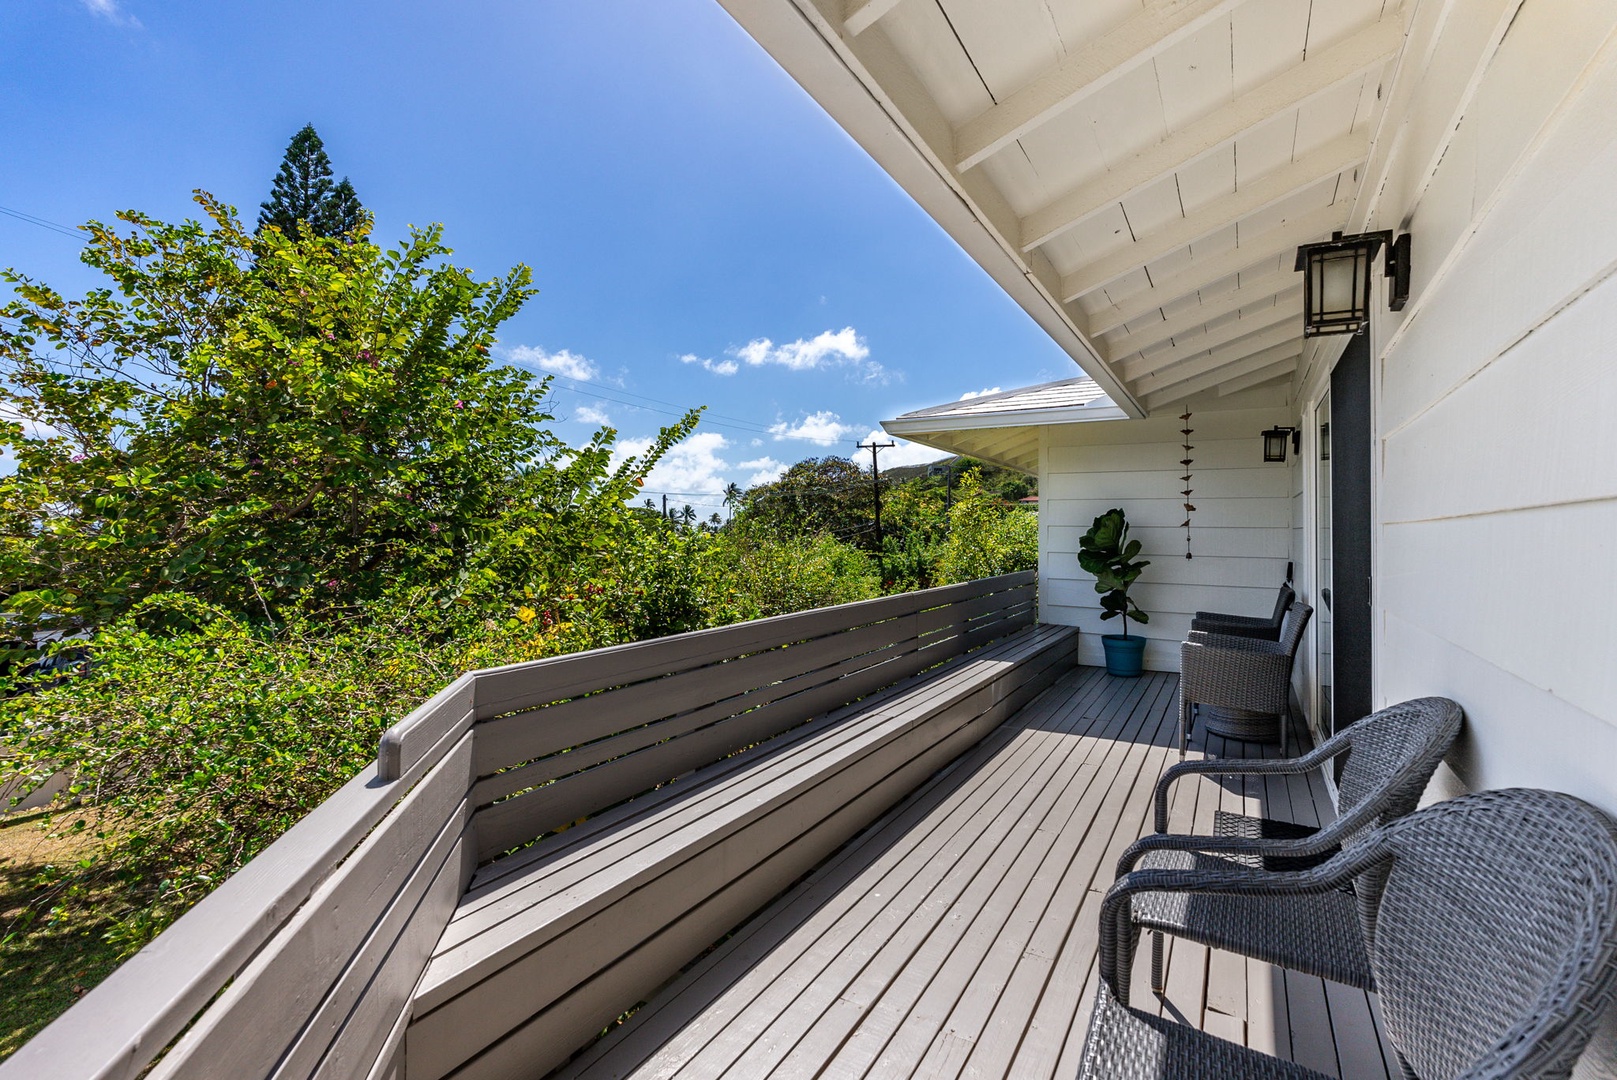
M 1447 791 L 1617 813 L 1617 5 L 1528 0 L 1507 26 L 1416 16 L 1431 58 L 1395 89 L 1368 223 L 1415 238 L 1374 341 L 1374 697 L 1465 707 Z

